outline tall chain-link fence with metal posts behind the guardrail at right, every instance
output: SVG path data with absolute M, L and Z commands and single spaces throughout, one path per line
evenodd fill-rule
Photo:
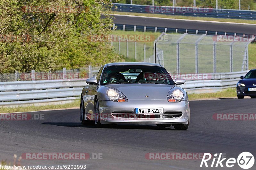
M 162 33 L 155 41 L 155 61 L 172 73 L 248 70 L 248 45 L 254 38 Z

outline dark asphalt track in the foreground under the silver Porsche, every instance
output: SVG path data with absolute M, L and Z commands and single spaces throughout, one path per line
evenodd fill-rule
M 225 153 L 256 155 L 255 120 L 214 120 L 215 113 L 255 113 L 256 99 L 190 101 L 188 130 L 155 125 L 117 125 L 98 129 L 81 125 L 79 109 L 43 111 L 44 120 L 0 122 L 0 160 L 22 153 L 102 153 L 102 159 L 21 160 L 22 165 L 86 165 L 86 169 L 241 169 L 200 168 L 200 159 L 152 160 L 147 153 Z M 34 113 L 31 113 L 32 117 Z M 227 160 L 227 159 L 226 159 Z M 224 163 L 226 162 L 224 161 Z M 216 162 L 216 161 L 215 161 Z M 212 162 L 209 162 L 210 166 Z M 215 166 L 215 164 L 214 164 Z M 255 164 L 251 169 L 255 169 Z

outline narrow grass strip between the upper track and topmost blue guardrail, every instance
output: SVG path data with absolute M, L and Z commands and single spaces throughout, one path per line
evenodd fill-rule
M 145 16 L 145 17 L 174 18 L 174 19 L 190 19 L 190 20 L 200 20 L 200 21 L 219 21 L 219 22 L 236 22 L 236 23 L 256 24 L 256 20 L 246 20 L 246 19 L 188 17 L 188 16 L 180 16 L 180 15 L 164 15 L 164 14 L 150 14 L 150 13 L 145 14 L 145 13 L 119 12 L 119 11 L 116 11 L 115 14 L 137 15 L 137 16 Z

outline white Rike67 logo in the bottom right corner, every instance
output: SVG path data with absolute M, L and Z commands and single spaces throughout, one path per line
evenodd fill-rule
M 240 153 L 238 155 L 237 159 L 235 159 L 235 158 L 221 159 L 221 155 L 222 155 L 222 153 L 220 153 L 220 154 L 215 153 L 214 157 L 212 159 L 211 153 L 204 153 L 200 167 L 203 167 L 203 166 L 208 167 L 207 161 L 209 161 L 210 159 L 212 159 L 212 163 L 209 165 L 210 167 L 218 167 L 219 165 L 220 165 L 220 167 L 224 167 L 223 165 L 225 165 L 226 167 L 231 168 L 234 166 L 234 164 L 236 164 L 236 162 L 243 169 L 249 169 L 254 165 L 254 157 L 250 152 Z M 217 159 L 217 161 L 215 163 L 216 159 Z M 227 159 L 226 163 L 224 163 L 225 159 Z M 210 161 L 208 163 L 210 163 Z

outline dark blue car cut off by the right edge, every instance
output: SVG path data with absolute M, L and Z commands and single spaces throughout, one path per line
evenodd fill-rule
M 244 96 L 256 98 L 256 69 L 250 70 L 245 76 L 240 77 L 236 84 L 236 93 L 238 99 L 244 99 Z

